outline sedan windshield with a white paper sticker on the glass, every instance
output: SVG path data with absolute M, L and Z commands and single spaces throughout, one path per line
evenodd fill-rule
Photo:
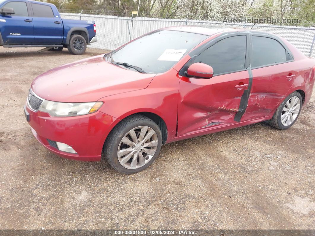
M 162 73 L 207 37 L 180 31 L 155 31 L 113 52 L 110 60 L 136 66 L 145 73 Z

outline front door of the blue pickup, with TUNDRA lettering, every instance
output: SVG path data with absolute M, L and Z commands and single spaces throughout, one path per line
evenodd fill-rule
M 34 29 L 31 11 L 24 1 L 10 1 L 0 8 L 12 8 L 14 14 L 0 14 L 0 32 L 4 45 L 34 44 Z

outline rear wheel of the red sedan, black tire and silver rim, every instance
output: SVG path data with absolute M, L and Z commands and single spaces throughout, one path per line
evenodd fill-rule
M 280 104 L 268 124 L 279 130 L 289 129 L 299 117 L 301 108 L 302 96 L 295 91 Z

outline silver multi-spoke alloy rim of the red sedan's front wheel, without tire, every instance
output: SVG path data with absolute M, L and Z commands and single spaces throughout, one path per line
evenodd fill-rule
M 157 145 L 156 132 L 148 126 L 138 126 L 120 141 L 117 150 L 119 163 L 127 169 L 138 169 L 152 159 Z

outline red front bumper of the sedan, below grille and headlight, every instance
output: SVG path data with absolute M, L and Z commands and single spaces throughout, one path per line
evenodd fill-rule
M 35 138 L 51 152 L 74 160 L 100 161 L 103 145 L 116 118 L 102 112 L 74 117 L 50 117 L 46 112 L 25 108 Z M 77 153 L 67 153 L 51 146 L 51 142 L 66 143 Z

